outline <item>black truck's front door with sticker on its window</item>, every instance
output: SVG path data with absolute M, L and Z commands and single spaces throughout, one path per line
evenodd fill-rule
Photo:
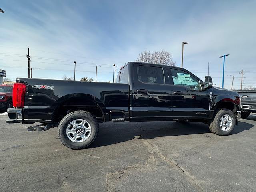
M 200 80 L 188 72 L 170 68 L 172 81 L 172 116 L 173 117 L 207 117 L 211 114 L 210 91 L 202 90 Z

